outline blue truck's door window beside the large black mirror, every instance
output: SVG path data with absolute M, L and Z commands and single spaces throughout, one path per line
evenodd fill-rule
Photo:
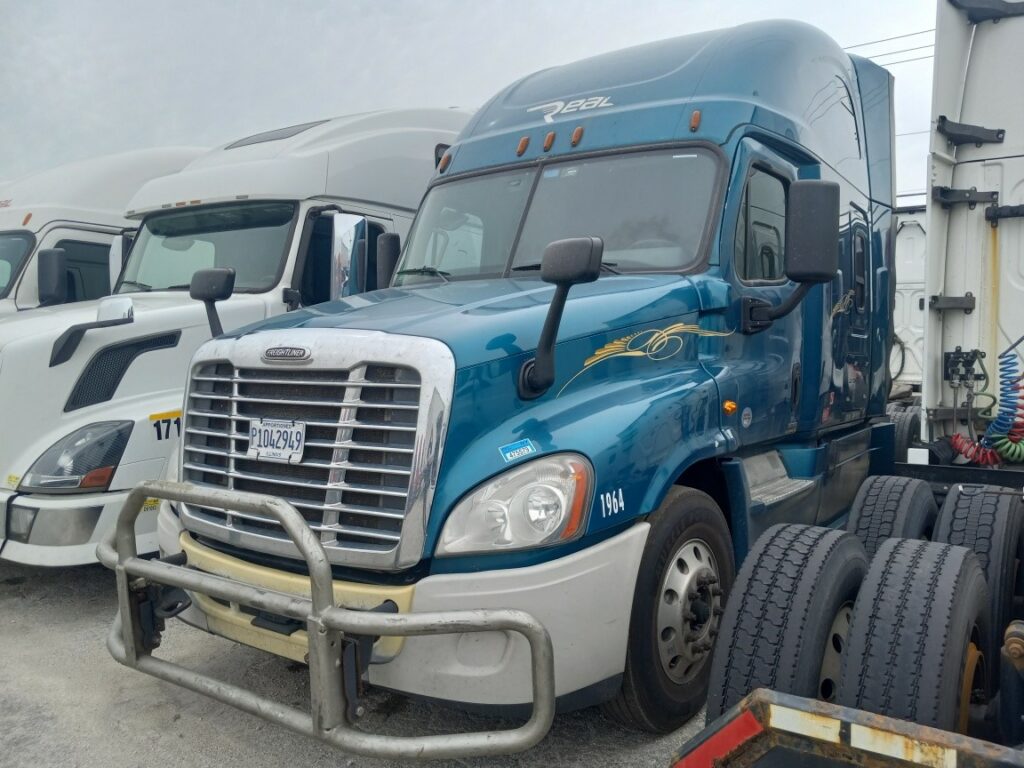
M 749 283 L 785 280 L 785 184 L 755 169 L 736 224 L 736 274 Z

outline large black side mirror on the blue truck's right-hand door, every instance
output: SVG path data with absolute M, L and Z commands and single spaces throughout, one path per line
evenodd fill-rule
M 839 184 L 790 184 L 785 214 L 785 276 L 794 283 L 829 283 L 839 271 Z

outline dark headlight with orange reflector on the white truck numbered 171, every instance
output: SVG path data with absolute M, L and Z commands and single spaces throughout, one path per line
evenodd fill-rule
M 75 494 L 105 490 L 131 436 L 132 422 L 90 424 L 57 440 L 24 478 L 19 490 Z

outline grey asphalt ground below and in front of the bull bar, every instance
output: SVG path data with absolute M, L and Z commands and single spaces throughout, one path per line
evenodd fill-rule
M 95 565 L 40 569 L 0 562 L 0 767 L 171 768 L 385 766 L 346 755 L 230 707 L 121 667 L 104 639 L 114 574 Z M 308 702 L 306 669 L 171 622 L 158 655 L 278 700 Z M 378 691 L 362 727 L 412 735 L 510 727 Z M 430 765 L 668 766 L 702 725 L 667 736 L 620 728 L 596 709 L 559 715 L 531 751 Z

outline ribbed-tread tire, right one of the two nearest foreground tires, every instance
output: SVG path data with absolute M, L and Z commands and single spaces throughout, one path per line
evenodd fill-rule
M 966 547 L 889 539 L 853 606 L 838 703 L 966 732 L 987 693 L 988 587 Z

